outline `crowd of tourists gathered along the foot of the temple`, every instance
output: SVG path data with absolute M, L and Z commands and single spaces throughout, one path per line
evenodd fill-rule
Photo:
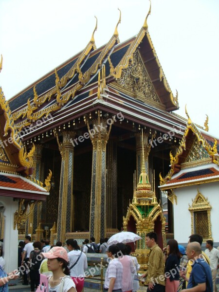
M 185 250 L 175 239 L 170 239 L 162 250 L 157 244 L 157 234 L 146 234 L 150 249 L 148 269 L 138 276 L 140 265 L 131 255 L 131 246 L 124 243 L 108 245 L 108 238 L 85 239 L 79 247 L 74 239 L 50 245 L 48 239 L 32 242 L 30 236 L 18 245 L 18 270 L 6 274 L 2 246 L 0 247 L 0 292 L 8 291 L 11 279 L 22 279 L 23 285 L 31 286 L 34 292 L 40 284 L 40 274 L 46 276 L 48 292 L 82 292 L 85 271 L 88 269 L 88 253 L 107 254 L 108 267 L 105 274 L 105 292 L 137 292 L 139 280 L 145 281 L 147 292 L 216 292 L 216 275 L 219 269 L 219 247 L 212 240 L 206 241 L 206 250 L 201 250 L 202 237 L 191 235 Z M 40 290 L 39 290 L 40 291 Z

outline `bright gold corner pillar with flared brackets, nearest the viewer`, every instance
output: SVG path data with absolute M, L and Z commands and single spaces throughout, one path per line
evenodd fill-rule
M 103 119 L 98 110 L 97 118 L 92 120 L 92 129 L 85 119 L 93 145 L 90 235 L 99 242 L 106 236 L 106 146 L 113 119 Z

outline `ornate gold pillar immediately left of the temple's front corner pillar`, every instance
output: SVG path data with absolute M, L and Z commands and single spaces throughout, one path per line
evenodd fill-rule
M 73 231 L 73 131 L 63 131 L 62 143 L 55 132 L 59 151 L 62 157 L 58 203 L 57 240 L 65 243 L 66 232 Z

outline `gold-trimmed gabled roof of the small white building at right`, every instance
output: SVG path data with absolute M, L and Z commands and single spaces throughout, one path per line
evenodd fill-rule
M 171 170 L 160 175 L 162 190 L 219 181 L 219 139 L 202 133 L 188 116 L 180 146 L 175 155 L 170 152 Z

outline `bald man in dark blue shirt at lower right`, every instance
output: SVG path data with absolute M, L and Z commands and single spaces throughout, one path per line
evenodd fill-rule
M 209 265 L 201 256 L 201 245 L 199 242 L 191 242 L 187 245 L 186 255 L 193 261 L 192 272 L 189 279 L 185 272 L 181 272 L 183 279 L 188 281 L 184 292 L 213 292 L 212 274 Z

